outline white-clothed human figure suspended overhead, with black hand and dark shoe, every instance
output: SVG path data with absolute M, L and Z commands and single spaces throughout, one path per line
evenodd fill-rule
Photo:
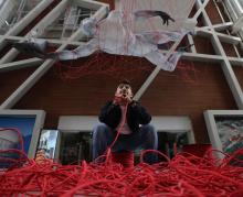
M 95 18 L 86 18 L 82 21 L 81 30 L 91 40 L 75 50 L 46 53 L 49 43 L 40 39 L 15 43 L 14 47 L 32 56 L 59 61 L 77 59 L 103 51 L 114 55 L 145 57 L 161 69 L 172 72 L 182 53 L 175 52 L 166 57 L 159 46 L 182 40 L 193 29 L 181 28 L 179 31 L 148 30 L 141 32 L 133 29 L 136 26 L 136 22 L 155 17 L 161 18 L 163 25 L 170 25 L 169 21 L 175 22 L 175 19 L 168 13 L 158 10 L 139 10 L 126 14 L 123 11 L 113 10 L 107 18 L 101 21 L 96 21 Z

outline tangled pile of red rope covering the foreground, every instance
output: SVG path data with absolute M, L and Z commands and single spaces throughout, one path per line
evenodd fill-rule
M 13 150 L 0 151 L 0 163 L 10 166 L 0 171 L 0 196 L 243 196 L 243 161 L 240 160 L 243 149 L 233 155 L 208 151 L 201 157 L 182 152 L 172 160 L 152 151 L 166 158 L 154 165 L 142 161 L 151 152 L 147 150 L 141 153 L 138 165 L 126 168 L 110 160 L 110 149 L 103 155 L 106 157 L 103 163 L 83 161 L 81 165 L 61 165 L 29 160 L 23 153 L 22 139 L 20 144 L 20 150 L 14 150 L 19 157 L 6 156 L 4 153 Z M 224 158 L 213 157 L 215 152 Z

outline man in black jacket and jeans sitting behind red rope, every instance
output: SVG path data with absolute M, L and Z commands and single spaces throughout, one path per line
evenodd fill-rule
M 105 154 L 110 147 L 112 152 L 157 150 L 158 136 L 155 128 L 149 124 L 151 116 L 136 100 L 133 100 L 131 86 L 128 80 L 119 83 L 114 100 L 107 101 L 99 114 L 101 123 L 93 130 L 93 160 Z M 157 162 L 155 153 L 146 153 L 144 162 Z

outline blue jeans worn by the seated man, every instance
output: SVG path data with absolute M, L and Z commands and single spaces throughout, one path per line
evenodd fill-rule
M 105 123 L 99 123 L 93 131 L 93 160 L 105 153 L 107 147 L 112 144 L 116 136 L 116 131 L 112 130 Z M 120 134 L 115 145 L 112 147 L 113 152 L 142 150 L 157 150 L 158 135 L 151 124 L 140 127 L 138 132 L 131 134 Z M 155 153 L 146 153 L 144 161 L 149 164 L 157 162 Z

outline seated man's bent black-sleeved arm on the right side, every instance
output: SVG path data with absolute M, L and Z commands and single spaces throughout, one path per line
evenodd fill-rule
M 133 100 L 130 105 L 134 113 L 138 116 L 140 124 L 148 124 L 151 121 L 151 116 L 138 101 Z

